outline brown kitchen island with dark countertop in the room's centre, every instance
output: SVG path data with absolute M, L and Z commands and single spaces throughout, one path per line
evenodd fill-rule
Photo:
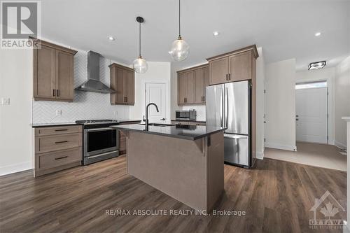
M 115 125 L 127 138 L 127 173 L 197 211 L 224 190 L 223 128 Z

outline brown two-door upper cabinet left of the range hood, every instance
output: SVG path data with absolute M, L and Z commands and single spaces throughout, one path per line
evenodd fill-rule
M 76 50 L 31 38 L 34 51 L 34 100 L 73 101 L 73 57 Z

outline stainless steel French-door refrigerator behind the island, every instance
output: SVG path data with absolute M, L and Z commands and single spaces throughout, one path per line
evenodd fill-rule
M 225 163 L 252 167 L 251 82 L 209 86 L 206 102 L 207 125 L 225 128 Z

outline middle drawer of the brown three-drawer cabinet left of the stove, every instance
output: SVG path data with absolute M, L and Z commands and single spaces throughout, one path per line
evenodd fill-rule
M 35 140 L 35 153 L 45 153 L 81 146 L 82 134 L 62 134 L 52 136 L 38 136 Z

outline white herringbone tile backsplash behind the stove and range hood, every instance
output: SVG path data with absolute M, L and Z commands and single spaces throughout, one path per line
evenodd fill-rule
M 109 85 L 109 64 L 100 59 L 100 78 Z M 79 50 L 74 56 L 74 87 L 87 80 L 87 52 Z M 33 101 L 33 123 L 73 122 L 90 119 L 130 119 L 129 106 L 112 106 L 109 94 L 74 91 L 73 102 Z M 62 115 L 56 115 L 62 111 Z M 134 118 L 133 118 L 134 119 Z

